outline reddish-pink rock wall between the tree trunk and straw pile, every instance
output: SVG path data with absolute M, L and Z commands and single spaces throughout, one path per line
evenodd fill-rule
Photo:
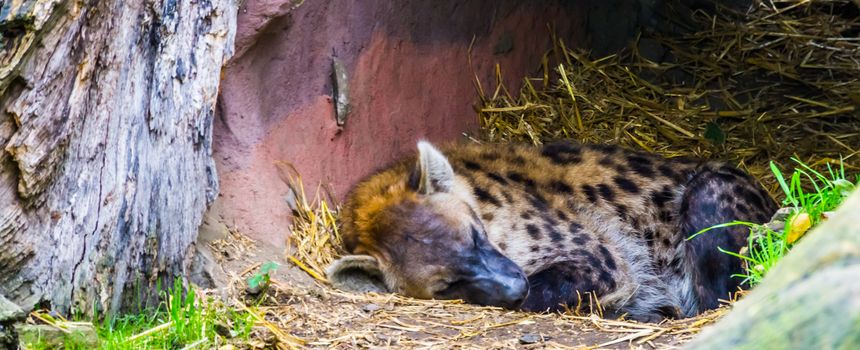
M 585 40 L 579 3 L 307 0 L 291 8 L 288 0 L 247 0 L 237 53 L 223 72 L 214 129 L 221 195 L 210 217 L 283 245 L 287 188 L 274 161 L 295 164 L 308 191 L 331 183 L 343 197 L 419 139 L 476 132 L 475 74 L 492 89 L 498 63 L 516 88 L 550 47 L 548 24 L 569 43 Z M 342 128 L 332 56 L 349 76 L 352 112 Z

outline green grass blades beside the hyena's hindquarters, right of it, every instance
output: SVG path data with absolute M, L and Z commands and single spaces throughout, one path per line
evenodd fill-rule
M 777 182 L 779 182 L 779 187 L 785 195 L 782 204 L 792 208 L 785 219 L 784 229 L 752 222 L 734 221 L 706 228 L 688 238 L 688 240 L 693 239 L 700 234 L 721 227 L 735 225 L 749 227 L 750 239 L 747 247 L 739 252 L 718 249 L 744 261 L 745 271 L 734 274 L 732 277 L 742 278 L 742 283 L 747 283 L 750 286 L 759 284 L 768 271 L 791 251 L 791 247 L 806 232 L 806 229 L 792 225 L 792 222 L 799 215 L 808 217 L 811 226 L 815 227 L 821 220 L 824 220 L 825 213 L 836 209 L 860 184 L 860 176 L 855 175 L 853 181 L 849 180 L 849 177 L 845 175 L 845 167 L 841 161 L 838 168 L 827 164 L 826 169 L 821 171 L 815 170 L 797 159 L 792 158 L 792 161 L 797 166 L 787 178 L 774 162 L 770 163 L 771 171 L 773 171 Z

